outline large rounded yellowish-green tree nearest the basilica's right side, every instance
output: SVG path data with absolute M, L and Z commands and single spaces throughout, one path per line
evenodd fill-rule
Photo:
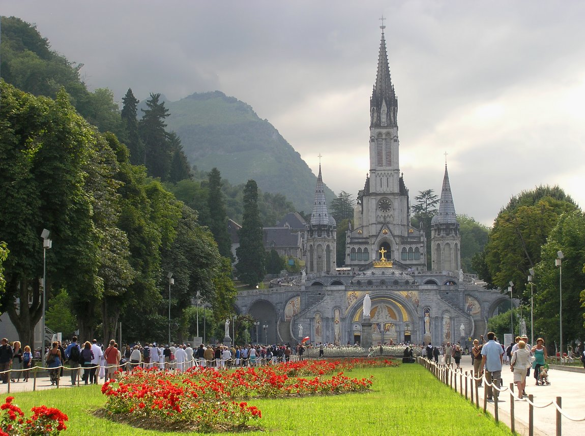
M 548 195 L 553 191 L 554 198 Z M 570 197 L 558 199 L 560 191 L 537 188 L 523 192 L 498 214 L 484 248 L 487 269 L 497 288 L 506 289 L 510 281 L 524 283 L 528 269 L 541 260 L 541 247 L 560 215 L 576 209 Z

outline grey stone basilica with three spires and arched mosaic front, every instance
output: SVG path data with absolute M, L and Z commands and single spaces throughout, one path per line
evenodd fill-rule
M 302 238 L 305 271 L 269 289 L 238 293 L 236 310 L 259 321 L 256 341 L 294 344 L 461 342 L 486 333 L 487 319 L 509 299 L 463 274 L 461 236 L 449 174 L 431 223 L 431 270 L 425 232 L 411 223 L 400 172 L 398 98 L 390 77 L 384 26 L 370 98 L 370 168 L 347 230 L 345 267 L 336 268 L 337 229 L 325 200 L 321 165 L 311 219 Z M 369 320 L 363 300 L 369 296 Z M 508 306 L 509 307 L 509 306 Z M 367 318 L 367 317 L 366 317 Z M 254 337 L 253 337 L 254 339 Z

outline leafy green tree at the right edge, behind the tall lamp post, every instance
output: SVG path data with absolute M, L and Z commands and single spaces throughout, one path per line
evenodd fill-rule
M 585 214 L 580 210 L 563 213 L 550 231 L 535 268 L 535 323 L 552 343 L 559 340 L 560 269 L 555 266 L 557 252 L 562 251 L 563 344 L 585 336 L 583 288 L 585 287 Z M 530 288 L 524 301 L 530 298 Z M 580 302 L 581 304 L 578 304 Z M 558 342 L 557 342 L 558 343 Z M 565 347 L 563 347 L 565 348 Z M 566 348 L 562 350 L 566 352 Z

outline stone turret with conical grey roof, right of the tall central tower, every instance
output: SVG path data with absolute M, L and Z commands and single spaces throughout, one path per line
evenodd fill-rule
M 459 272 L 461 268 L 461 236 L 445 164 L 439 212 L 431 220 L 431 258 L 433 271 Z

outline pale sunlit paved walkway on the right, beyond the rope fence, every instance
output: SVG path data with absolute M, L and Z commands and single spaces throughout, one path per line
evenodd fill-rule
M 463 373 L 473 373 L 470 356 L 463 356 L 461 359 L 461 368 Z M 498 400 L 498 414 L 500 421 L 510 427 L 510 383 L 514 382 L 514 374 L 510 371 L 510 365 L 504 364 L 502 368 L 503 386 L 507 390 L 500 393 Z M 535 379 L 532 376 L 526 378 L 526 393 L 534 395 L 536 406 L 542 406 L 549 403 L 550 400 L 556 400 L 556 397 L 562 397 L 563 413 L 572 418 L 585 417 L 585 399 L 583 396 L 583 386 L 585 386 L 585 373 L 559 371 L 553 368 L 549 369 L 549 386 L 536 386 Z M 459 392 L 459 378 L 457 378 L 457 391 Z M 463 392 L 465 392 L 465 382 L 463 382 Z M 514 393 L 517 395 L 516 386 Z M 480 407 L 483 409 L 484 388 L 479 389 Z M 494 403 L 487 403 L 487 410 L 494 414 Z M 514 416 L 516 421 L 516 431 L 521 435 L 528 435 L 528 403 L 525 401 L 514 401 Z M 554 436 L 556 434 L 556 407 L 552 404 L 543 409 L 534 409 L 534 434 Z M 562 417 L 562 434 L 563 435 L 581 435 L 585 434 L 585 421 L 571 421 Z

